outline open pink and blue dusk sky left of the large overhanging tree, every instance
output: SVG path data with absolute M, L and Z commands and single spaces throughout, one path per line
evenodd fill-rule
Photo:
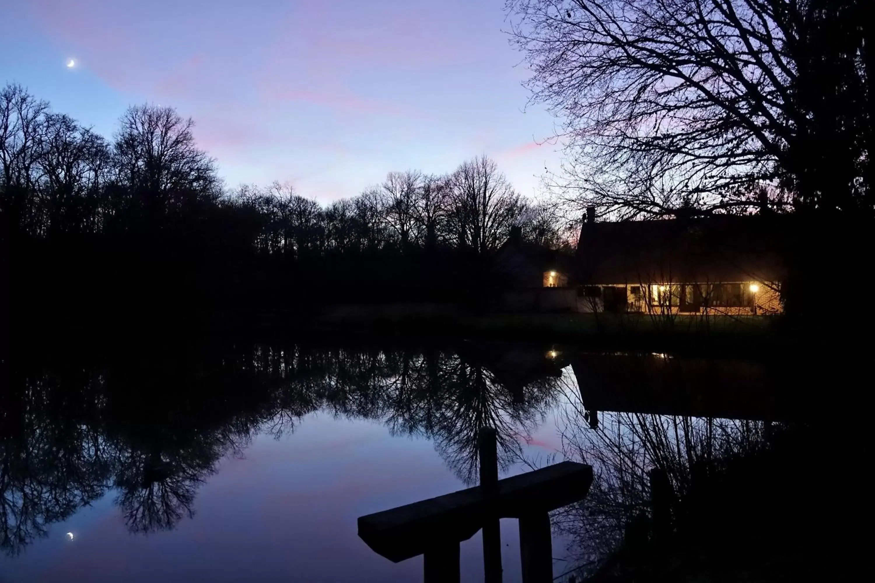
M 534 196 L 557 170 L 503 0 L 3 4 L 0 83 L 108 137 L 132 104 L 173 106 L 229 186 L 289 181 L 327 203 L 486 154 Z

